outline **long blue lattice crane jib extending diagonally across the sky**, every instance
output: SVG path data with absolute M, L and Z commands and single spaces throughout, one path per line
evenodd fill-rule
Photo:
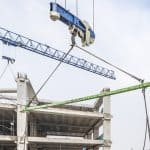
M 42 44 L 39 42 L 36 42 L 34 40 L 31 40 L 27 37 L 24 37 L 20 34 L 16 34 L 14 32 L 8 31 L 4 28 L 0 27 L 0 41 L 2 41 L 6 45 L 15 46 L 24 48 L 26 50 L 35 52 L 37 54 L 62 61 L 66 64 L 81 68 L 83 70 L 110 78 L 115 79 L 114 71 L 108 70 L 106 68 L 103 68 L 101 66 L 98 66 L 96 64 L 90 63 L 82 58 L 77 58 L 72 55 L 67 55 L 67 57 L 64 59 L 64 56 L 66 56 L 66 53 L 59 51 L 55 48 L 52 48 L 46 44 Z

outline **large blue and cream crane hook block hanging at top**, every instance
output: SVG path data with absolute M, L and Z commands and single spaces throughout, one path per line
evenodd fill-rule
M 83 46 L 89 46 L 95 40 L 95 33 L 86 21 L 83 21 L 70 13 L 65 8 L 61 7 L 57 3 L 50 3 L 50 18 L 54 21 L 60 20 L 69 26 L 69 30 L 72 34 L 75 34 L 81 38 Z

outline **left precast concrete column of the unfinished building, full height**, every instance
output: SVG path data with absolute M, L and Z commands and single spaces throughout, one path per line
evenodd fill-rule
M 27 113 L 22 112 L 29 100 L 27 93 L 28 79 L 26 75 L 18 74 L 17 77 L 17 150 L 27 150 Z

